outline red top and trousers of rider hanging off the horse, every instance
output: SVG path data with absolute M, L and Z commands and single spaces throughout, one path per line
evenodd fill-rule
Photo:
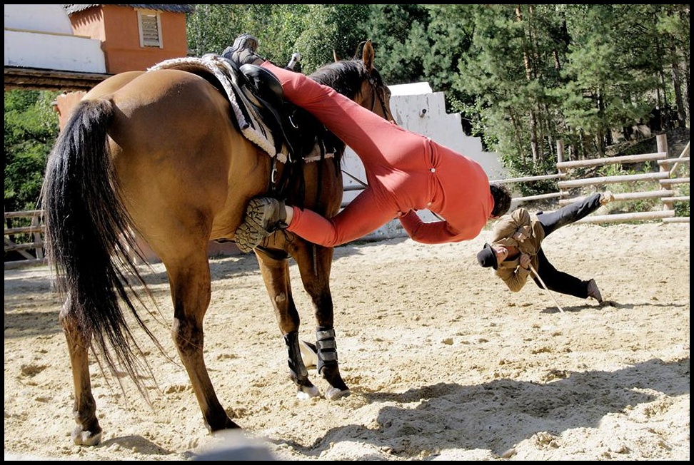
M 282 84 L 285 97 L 318 118 L 359 156 L 365 188 L 338 215 L 326 219 L 293 207 L 287 230 L 326 247 L 356 240 L 399 218 L 417 242 L 471 240 L 494 208 L 489 179 L 481 165 L 426 136 L 386 121 L 311 78 L 262 64 Z M 415 210 L 428 209 L 445 220 L 425 223 Z

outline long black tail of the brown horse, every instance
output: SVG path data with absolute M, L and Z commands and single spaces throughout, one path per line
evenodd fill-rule
M 143 303 L 135 277 L 149 295 L 132 252 L 139 250 L 119 193 L 106 129 L 114 117 L 108 100 L 85 100 L 74 108 L 46 164 L 42 190 L 46 251 L 59 292 L 92 349 L 111 373 L 125 370 L 146 397 L 142 369 L 149 364 L 126 322 L 119 297 L 161 349 L 136 311 Z M 120 379 L 120 377 L 116 377 Z

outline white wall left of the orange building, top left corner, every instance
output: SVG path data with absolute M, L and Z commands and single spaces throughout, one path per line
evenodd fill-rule
M 59 4 L 5 5 L 4 66 L 106 73 L 99 39 L 74 36 Z

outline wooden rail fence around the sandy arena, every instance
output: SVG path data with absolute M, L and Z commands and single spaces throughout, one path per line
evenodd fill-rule
M 528 176 L 526 178 L 501 179 L 494 182 L 511 185 L 513 183 L 532 183 L 538 180 L 558 179 L 559 192 L 517 197 L 513 199 L 512 207 L 514 207 L 521 203 L 526 203 L 533 200 L 548 200 L 552 198 L 558 199 L 559 206 L 567 205 L 568 203 L 573 203 L 583 198 L 570 198 L 571 189 L 586 188 L 591 185 L 609 185 L 614 183 L 620 183 L 622 185 L 624 183 L 633 183 L 635 185 L 636 183 L 644 180 L 652 181 L 654 189 L 615 193 L 615 201 L 659 199 L 662 203 L 662 208 L 647 212 L 589 215 L 588 217 L 579 220 L 577 223 L 620 223 L 640 220 L 662 220 L 663 223 L 689 223 L 688 216 L 676 217 L 674 208 L 674 204 L 677 202 L 689 202 L 689 195 L 678 195 L 678 191 L 675 189 L 675 186 L 677 185 L 689 184 L 689 177 L 676 177 L 676 170 L 680 166 L 689 164 L 689 143 L 687 143 L 685 149 L 678 158 L 668 157 L 668 142 L 664 135 L 656 136 L 656 143 L 658 151 L 655 153 L 576 161 L 563 161 L 563 147 L 561 143 L 558 143 L 558 173 L 552 175 Z M 658 163 L 658 172 L 602 176 L 596 178 L 580 178 L 573 180 L 568 179 L 572 174 L 572 170 L 577 168 L 590 168 L 615 164 L 626 165 L 630 163 L 644 163 L 648 161 L 655 161 Z M 353 187 L 349 188 L 348 190 L 359 189 L 363 189 L 363 187 Z M 41 210 L 5 212 L 5 255 L 7 255 L 8 252 L 16 252 L 24 257 L 22 260 L 6 261 L 6 270 L 24 265 L 44 264 L 46 262 L 43 249 L 44 227 L 41 216 L 42 213 L 43 212 Z M 11 225 L 11 220 L 14 218 L 29 218 L 31 220 L 31 225 L 22 226 L 19 228 L 8 227 L 8 225 Z M 398 228 L 398 230 L 400 230 L 401 233 L 397 233 L 396 235 L 405 235 L 401 228 Z M 21 235 L 24 235 L 24 239 L 28 237 L 29 241 L 27 242 L 27 240 L 23 240 L 21 242 L 17 242 L 17 238 L 21 237 Z M 364 240 L 380 240 L 390 236 L 391 235 L 369 235 L 365 237 Z M 34 254 L 30 253 L 31 250 L 34 250 Z

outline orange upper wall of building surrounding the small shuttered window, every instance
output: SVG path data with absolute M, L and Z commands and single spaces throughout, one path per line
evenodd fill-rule
M 141 47 L 137 10 L 131 6 L 99 5 L 70 15 L 74 34 L 101 41 L 106 72 L 144 71 L 160 61 L 188 53 L 186 15 L 156 11 L 161 19 L 159 47 Z

